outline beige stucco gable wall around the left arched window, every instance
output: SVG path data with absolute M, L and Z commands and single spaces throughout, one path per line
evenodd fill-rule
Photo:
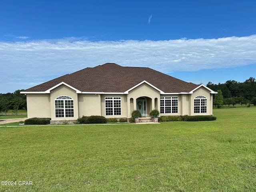
M 69 96 L 74 100 L 74 117 L 68 117 L 68 118 L 56 118 L 55 117 L 55 102 L 54 100 L 58 98 L 59 96 Z M 52 120 L 76 120 L 78 119 L 78 95 L 76 91 L 73 89 L 65 86 L 65 85 L 60 85 L 57 88 L 53 89 L 50 92 L 50 100 L 51 100 L 51 118 Z

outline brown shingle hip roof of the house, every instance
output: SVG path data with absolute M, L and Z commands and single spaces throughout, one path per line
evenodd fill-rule
M 24 92 L 44 92 L 61 82 L 82 92 L 125 92 L 144 80 L 165 93 L 190 92 L 199 86 L 150 68 L 122 67 L 106 63 L 61 76 Z

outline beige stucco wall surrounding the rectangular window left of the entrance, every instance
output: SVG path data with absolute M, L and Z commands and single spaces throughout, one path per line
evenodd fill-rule
M 106 115 L 105 97 L 121 97 L 121 115 Z M 127 117 L 127 95 L 124 94 L 102 94 L 101 99 L 101 116 L 106 118 L 126 118 Z

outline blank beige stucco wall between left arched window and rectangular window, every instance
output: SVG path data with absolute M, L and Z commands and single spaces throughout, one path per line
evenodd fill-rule
M 99 94 L 78 94 L 79 117 L 99 115 L 101 116 L 101 98 Z

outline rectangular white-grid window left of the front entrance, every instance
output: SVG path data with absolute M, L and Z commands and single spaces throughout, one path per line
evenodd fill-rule
M 105 97 L 106 115 L 121 115 L 121 98 Z

